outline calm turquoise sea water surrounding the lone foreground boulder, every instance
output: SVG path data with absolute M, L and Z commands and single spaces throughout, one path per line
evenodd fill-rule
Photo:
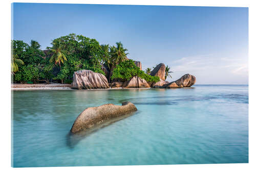
M 248 162 L 248 86 L 13 91 L 13 166 Z M 130 101 L 138 111 L 70 135 L 87 107 Z

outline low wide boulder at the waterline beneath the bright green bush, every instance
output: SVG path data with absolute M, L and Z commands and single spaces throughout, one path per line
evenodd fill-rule
M 123 88 L 145 88 L 150 87 L 150 85 L 138 76 L 134 76 L 131 80 L 126 81 L 122 85 Z

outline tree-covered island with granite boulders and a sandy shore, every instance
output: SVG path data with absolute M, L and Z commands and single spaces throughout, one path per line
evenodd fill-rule
M 182 88 L 196 83 L 189 74 L 167 82 L 173 71 L 164 63 L 143 71 L 121 42 L 100 45 L 96 39 L 69 34 L 51 44 L 40 50 L 37 41 L 29 45 L 12 40 L 12 89 Z

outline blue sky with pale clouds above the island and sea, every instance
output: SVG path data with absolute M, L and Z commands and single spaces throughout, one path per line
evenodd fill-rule
M 248 8 L 14 3 L 12 39 L 51 46 L 70 33 L 121 41 L 142 69 L 170 66 L 175 81 L 248 84 Z

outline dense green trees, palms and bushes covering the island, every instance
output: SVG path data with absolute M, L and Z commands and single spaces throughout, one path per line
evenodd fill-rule
M 129 53 L 126 53 L 127 49 L 121 42 L 116 42 L 116 46 L 100 45 L 96 39 L 69 34 L 54 39 L 51 45 L 42 51 L 37 41 L 31 40 L 29 45 L 24 41 L 12 40 L 13 81 L 71 83 L 74 71 L 81 69 L 103 75 L 104 70 L 107 70 L 110 74 L 109 82 L 116 78 L 128 80 L 132 76 L 139 76 L 148 82 L 159 80 L 145 74 L 132 60 L 127 59 Z

